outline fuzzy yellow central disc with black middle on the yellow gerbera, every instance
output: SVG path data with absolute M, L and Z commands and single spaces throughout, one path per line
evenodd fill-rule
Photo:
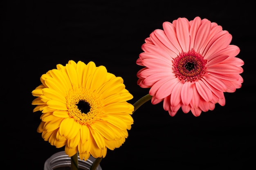
M 88 125 L 99 119 L 102 102 L 90 89 L 74 88 L 67 95 L 67 108 L 70 117 L 80 124 Z

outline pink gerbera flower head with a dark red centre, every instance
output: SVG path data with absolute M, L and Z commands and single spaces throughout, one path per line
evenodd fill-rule
M 138 85 L 150 88 L 152 104 L 163 101 L 171 116 L 182 108 L 195 116 L 225 105 L 223 92 L 240 88 L 243 60 L 228 31 L 207 19 L 164 22 L 146 38 L 137 64 Z

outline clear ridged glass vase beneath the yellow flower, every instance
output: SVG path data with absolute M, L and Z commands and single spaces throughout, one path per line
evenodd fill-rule
M 79 170 L 90 170 L 94 161 L 95 158 L 92 156 L 86 161 L 78 156 Z M 44 170 L 71 170 L 71 157 L 67 156 L 65 151 L 57 152 L 45 161 Z M 101 166 L 99 165 L 96 170 L 102 170 Z

